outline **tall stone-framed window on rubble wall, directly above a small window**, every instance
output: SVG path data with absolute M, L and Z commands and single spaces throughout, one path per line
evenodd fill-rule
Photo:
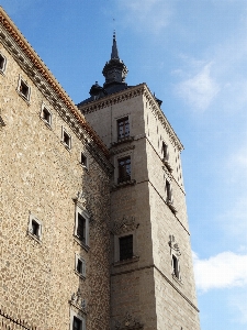
M 85 245 L 89 244 L 89 213 L 76 207 L 75 237 Z

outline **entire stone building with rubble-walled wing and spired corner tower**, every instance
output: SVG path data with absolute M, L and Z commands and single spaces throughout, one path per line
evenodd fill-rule
M 75 106 L 0 9 L 0 328 L 199 330 L 180 140 L 115 35 Z

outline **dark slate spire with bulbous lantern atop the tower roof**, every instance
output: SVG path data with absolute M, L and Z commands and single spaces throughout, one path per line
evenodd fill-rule
M 102 74 L 105 77 L 105 82 L 103 85 L 104 88 L 115 85 L 124 85 L 125 77 L 127 75 L 127 67 L 123 63 L 123 61 L 119 57 L 119 51 L 116 46 L 115 32 L 113 33 L 113 44 L 112 44 L 112 54 L 111 59 L 106 62 Z

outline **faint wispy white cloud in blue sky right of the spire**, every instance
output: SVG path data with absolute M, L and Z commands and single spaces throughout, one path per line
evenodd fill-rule
M 211 77 L 212 64 L 203 66 L 194 77 L 179 82 L 176 92 L 195 109 L 206 109 L 220 91 L 218 85 Z

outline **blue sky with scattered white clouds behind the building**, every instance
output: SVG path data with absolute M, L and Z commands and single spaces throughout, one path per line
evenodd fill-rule
M 184 145 L 202 330 L 247 329 L 247 1 L 0 0 L 75 103 L 104 82 L 116 31 Z

